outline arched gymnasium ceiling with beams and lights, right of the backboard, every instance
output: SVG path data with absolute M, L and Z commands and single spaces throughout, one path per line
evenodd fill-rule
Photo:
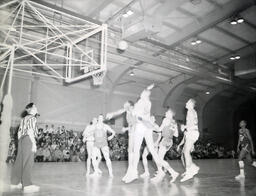
M 239 92 L 241 96 L 256 92 L 256 82 L 252 80 L 254 69 L 248 67 L 250 79 L 245 77 L 246 73 L 242 78 L 236 75 L 244 62 L 256 66 L 256 61 L 247 62 L 253 55 L 256 58 L 254 0 L 34 1 L 109 25 L 111 91 L 125 85 L 144 88 L 151 82 L 169 85 L 180 75 L 185 75 L 184 80 L 169 85 L 171 91 L 185 79 L 196 78 L 186 83 L 180 100 L 216 91 L 219 84 L 227 85 L 232 89 L 230 91 Z M 128 11 L 133 13 L 125 16 Z M 51 15 L 61 22 L 61 14 L 58 17 L 55 13 Z M 238 16 L 244 22 L 231 25 L 231 20 Z M 120 40 L 128 42 L 128 49 L 123 52 L 117 50 Z M 192 44 L 196 40 L 201 43 Z M 235 56 L 240 59 L 230 59 Z

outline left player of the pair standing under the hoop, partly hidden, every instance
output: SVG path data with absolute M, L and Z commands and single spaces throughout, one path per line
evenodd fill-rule
M 97 118 L 93 118 L 92 119 L 92 124 L 88 125 L 84 132 L 83 132 L 83 142 L 86 142 L 86 149 L 87 149 L 87 154 L 88 154 L 88 158 L 87 158 L 87 170 L 86 170 L 86 176 L 90 175 L 90 169 L 91 169 L 91 163 L 92 163 L 92 155 L 93 155 L 93 145 L 94 145 L 94 130 L 95 130 L 95 125 L 97 124 Z M 95 163 L 93 163 L 93 166 L 95 165 Z M 94 168 L 94 171 L 97 168 Z M 98 170 L 99 173 L 101 173 Z

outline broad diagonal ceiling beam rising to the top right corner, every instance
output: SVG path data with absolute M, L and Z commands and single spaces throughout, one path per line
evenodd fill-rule
M 223 9 L 216 9 L 208 15 L 194 21 L 182 29 L 181 32 L 173 33 L 166 38 L 170 48 L 174 48 L 190 37 L 197 36 L 206 29 L 215 26 L 219 22 L 231 17 L 234 12 L 245 10 L 254 4 L 253 0 L 232 0 L 223 6 Z

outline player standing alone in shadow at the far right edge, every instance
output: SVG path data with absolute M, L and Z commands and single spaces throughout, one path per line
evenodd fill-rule
M 238 164 L 240 174 L 235 178 L 237 180 L 245 178 L 244 174 L 244 159 L 246 159 L 252 166 L 256 167 L 256 161 L 252 160 L 252 155 L 255 154 L 250 131 L 246 128 L 246 122 L 242 120 L 239 124 L 239 139 L 237 145 L 237 152 L 239 153 Z M 241 147 L 241 150 L 240 150 Z

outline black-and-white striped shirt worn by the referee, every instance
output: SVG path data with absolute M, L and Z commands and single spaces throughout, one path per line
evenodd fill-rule
M 37 124 L 36 124 L 36 117 L 32 115 L 25 116 L 21 122 L 20 127 L 18 130 L 18 139 L 20 139 L 23 136 L 28 135 L 28 132 L 34 133 L 34 136 L 37 136 Z

